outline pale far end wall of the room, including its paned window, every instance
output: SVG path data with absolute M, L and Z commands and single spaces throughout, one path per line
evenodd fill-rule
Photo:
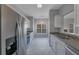
M 34 38 L 47 38 L 49 32 L 48 27 L 47 18 L 34 19 Z

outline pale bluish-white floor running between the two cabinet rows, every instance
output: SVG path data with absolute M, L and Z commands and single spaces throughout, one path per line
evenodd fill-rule
M 54 52 L 49 46 L 48 38 L 33 39 L 30 47 L 27 49 L 27 55 L 53 55 Z

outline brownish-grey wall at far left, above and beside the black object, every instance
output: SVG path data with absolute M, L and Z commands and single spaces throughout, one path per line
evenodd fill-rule
M 18 14 L 6 5 L 1 6 L 2 54 L 5 54 L 6 39 L 15 36 L 15 25 Z

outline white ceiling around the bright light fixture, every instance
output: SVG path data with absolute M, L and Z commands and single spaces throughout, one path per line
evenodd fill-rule
M 15 6 L 26 15 L 48 18 L 49 10 L 59 9 L 62 4 L 42 4 L 42 8 L 37 8 L 37 4 L 15 4 Z

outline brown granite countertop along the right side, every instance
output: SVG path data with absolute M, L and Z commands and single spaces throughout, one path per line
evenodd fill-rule
M 59 38 L 60 40 L 63 41 L 70 49 L 72 49 L 74 52 L 79 54 L 79 37 L 74 36 L 71 34 L 65 34 L 65 33 L 51 33 Z

